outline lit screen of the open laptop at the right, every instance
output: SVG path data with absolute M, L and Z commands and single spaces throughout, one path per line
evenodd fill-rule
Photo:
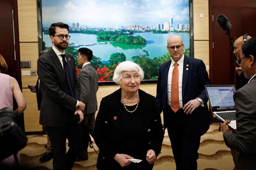
M 212 112 L 235 110 L 235 85 L 205 85 Z

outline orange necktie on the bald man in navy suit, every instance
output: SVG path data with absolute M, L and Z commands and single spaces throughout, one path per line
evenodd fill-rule
M 172 70 L 171 108 L 175 113 L 180 109 L 178 63 L 174 63 L 174 69 Z

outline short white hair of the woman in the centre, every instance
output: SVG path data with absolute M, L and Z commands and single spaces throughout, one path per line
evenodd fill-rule
M 113 80 L 118 85 L 120 85 L 121 83 L 120 80 L 122 78 L 123 71 L 136 71 L 139 73 L 140 81 L 142 81 L 144 78 L 144 72 L 138 64 L 132 61 L 124 61 L 117 65 L 116 70 L 114 72 Z

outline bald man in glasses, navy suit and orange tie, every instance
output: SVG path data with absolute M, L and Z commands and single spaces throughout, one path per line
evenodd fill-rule
M 210 85 L 204 62 L 184 56 L 179 35 L 167 41 L 172 59 L 159 67 L 156 100 L 164 112 L 177 170 L 196 170 L 200 138 L 210 126 L 205 85 Z

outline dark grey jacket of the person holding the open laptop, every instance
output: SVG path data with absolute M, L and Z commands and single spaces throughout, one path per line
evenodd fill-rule
M 240 152 L 238 166 L 255 169 L 256 159 L 256 80 L 234 93 L 236 106 L 236 134 L 225 132 L 224 141 L 229 148 Z M 254 159 L 253 161 L 250 161 Z M 253 165 L 252 165 L 253 164 Z

